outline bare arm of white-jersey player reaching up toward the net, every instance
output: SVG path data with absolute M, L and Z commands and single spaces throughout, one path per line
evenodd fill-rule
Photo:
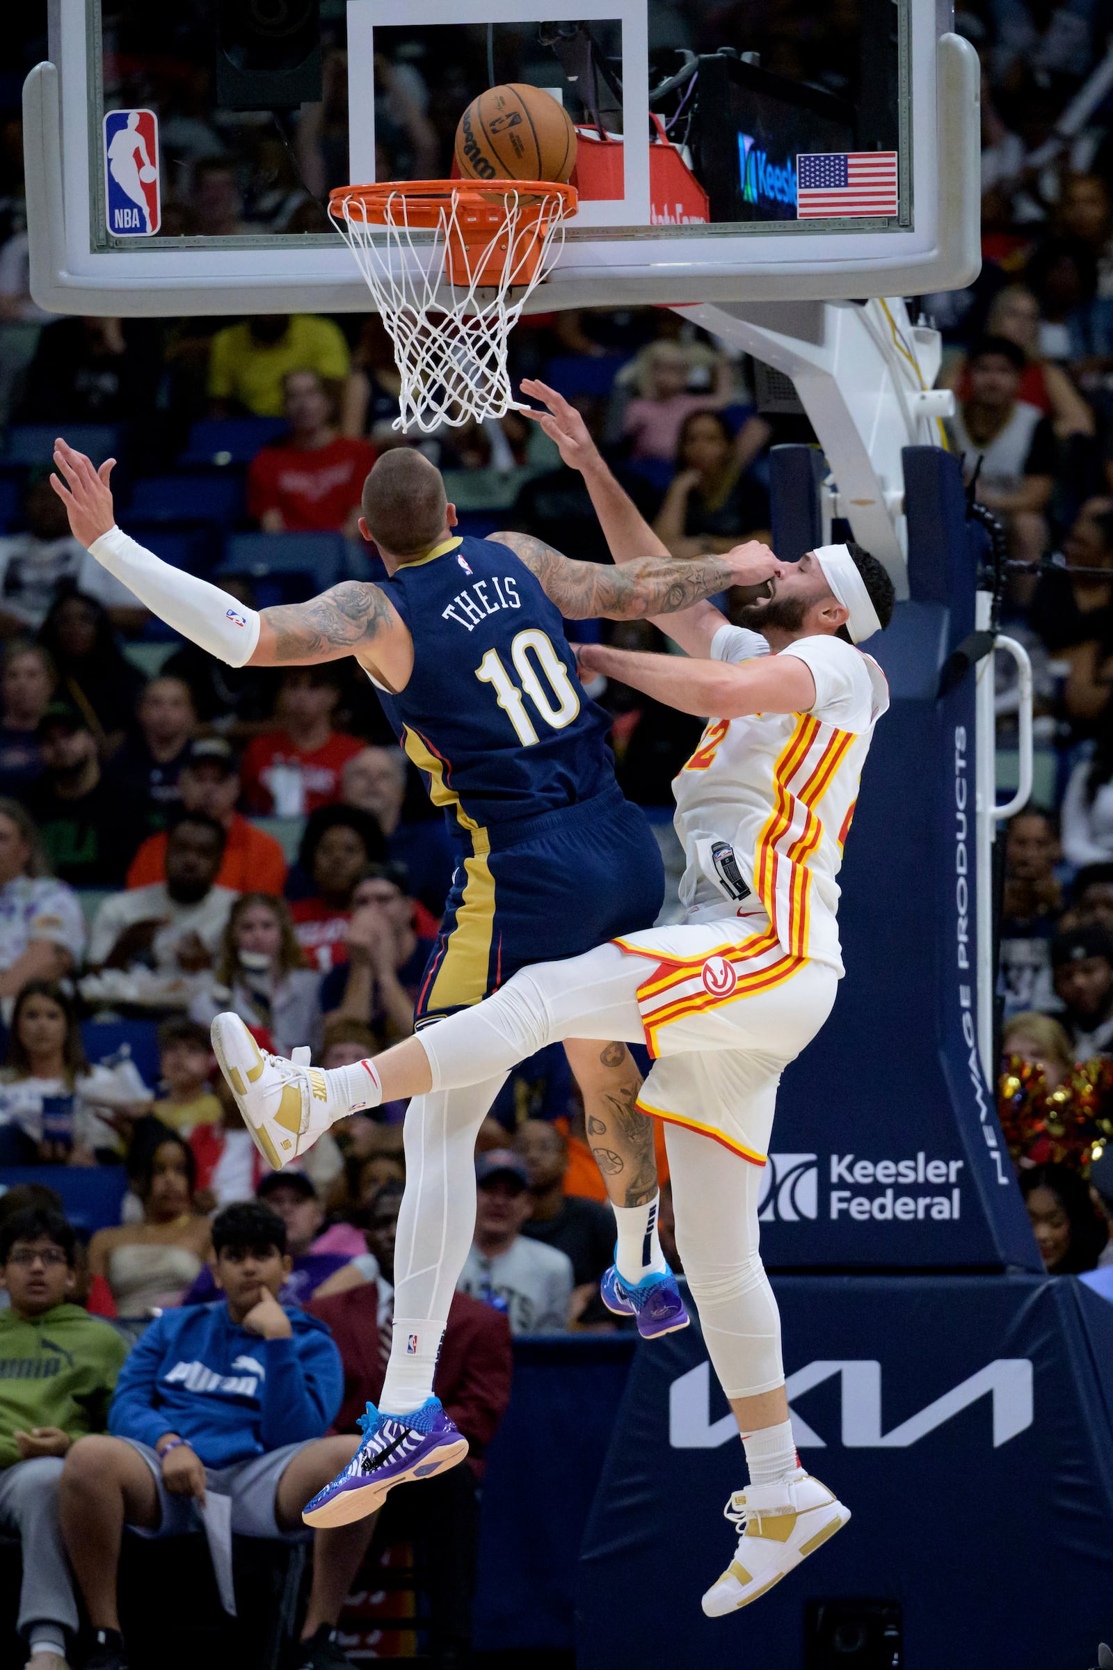
M 571 469 L 579 469 L 584 478 L 614 561 L 629 563 L 642 556 L 669 558 L 669 548 L 652 531 L 629 493 L 611 474 L 581 412 L 562 394 L 557 394 L 556 389 L 551 389 L 547 382 L 541 382 L 537 377 L 522 379 L 522 394 L 542 401 L 547 407 L 542 412 L 531 411 L 527 416 L 544 429 L 551 441 L 556 441 L 564 463 Z M 753 579 L 731 583 L 759 584 L 759 581 Z M 679 643 L 681 650 L 686 650 L 689 655 L 708 655 L 711 651 L 711 640 L 719 626 L 724 625 L 724 615 L 714 603 L 706 601 L 708 596 L 714 596 L 714 593 L 704 593 L 699 601 L 692 601 L 676 613 L 667 613 L 667 616 L 662 611 L 661 618 L 651 616 L 651 620 L 674 643 Z

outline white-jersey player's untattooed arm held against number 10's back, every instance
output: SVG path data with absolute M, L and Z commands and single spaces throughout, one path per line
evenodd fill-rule
M 794 655 L 763 655 L 753 661 L 681 660 L 586 643 L 576 658 L 587 673 L 602 673 L 696 718 L 736 720 L 744 713 L 808 713 L 816 705 L 816 681 Z

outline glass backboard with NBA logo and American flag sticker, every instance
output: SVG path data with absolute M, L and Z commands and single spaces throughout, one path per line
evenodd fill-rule
M 454 170 L 516 82 L 576 125 L 534 307 L 968 282 L 978 67 L 913 0 L 55 0 L 32 279 L 72 312 L 365 311 L 332 187 Z

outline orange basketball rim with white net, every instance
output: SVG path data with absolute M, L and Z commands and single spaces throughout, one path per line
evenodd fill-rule
M 329 194 L 394 342 L 395 429 L 517 409 L 509 334 L 552 269 L 576 202 L 571 185 L 551 180 L 390 180 Z

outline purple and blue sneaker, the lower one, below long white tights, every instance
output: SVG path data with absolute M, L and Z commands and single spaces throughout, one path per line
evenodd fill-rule
M 412 1414 L 382 1414 L 374 1403 L 359 1418 L 364 1440 L 342 1473 L 302 1510 L 305 1525 L 350 1525 L 382 1506 L 394 1485 L 446 1473 L 467 1455 L 467 1440 L 439 1398 Z

